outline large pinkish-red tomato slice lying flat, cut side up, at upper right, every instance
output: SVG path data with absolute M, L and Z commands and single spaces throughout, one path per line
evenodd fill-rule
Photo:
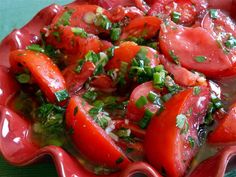
M 165 56 L 187 69 L 218 77 L 233 67 L 232 61 L 209 31 L 201 27 L 187 28 L 170 22 L 160 32 L 160 47 Z

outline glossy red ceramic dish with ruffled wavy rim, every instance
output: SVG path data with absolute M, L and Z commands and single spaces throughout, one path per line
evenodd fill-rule
M 218 7 L 217 2 L 217 0 L 212 0 L 210 5 Z M 81 3 L 81 1 L 74 3 Z M 235 17 L 236 1 L 227 0 L 225 4 L 223 9 L 231 12 L 232 16 Z M 107 6 L 109 7 L 109 3 L 107 3 Z M 17 83 L 14 81 L 8 69 L 10 51 L 23 49 L 29 44 L 36 42 L 40 28 L 49 24 L 59 9 L 60 7 L 57 5 L 46 7 L 24 27 L 11 32 L 0 44 L 0 152 L 7 161 L 18 166 L 33 163 L 46 155 L 50 155 L 61 177 L 92 177 L 96 175 L 86 171 L 74 157 L 69 155 L 62 148 L 56 146 L 39 148 L 34 144 L 30 136 L 30 123 L 6 107 L 7 100 L 10 99 L 18 88 Z M 225 147 L 214 157 L 202 162 L 189 176 L 223 177 L 227 170 L 227 164 L 229 162 L 231 165 L 233 163 L 234 165 L 236 164 L 235 157 L 236 146 Z M 231 162 L 233 160 L 234 162 Z M 148 177 L 161 176 L 149 164 L 137 162 L 131 164 L 119 173 L 109 175 L 109 177 L 132 177 L 138 173 Z

